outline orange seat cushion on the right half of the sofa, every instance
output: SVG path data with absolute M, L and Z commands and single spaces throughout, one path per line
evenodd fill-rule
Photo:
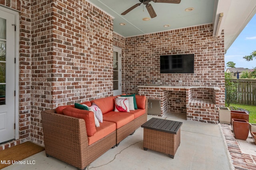
M 128 124 L 134 120 L 134 115 L 127 112 L 110 111 L 103 115 L 103 121 L 110 121 L 116 123 L 116 129 Z

